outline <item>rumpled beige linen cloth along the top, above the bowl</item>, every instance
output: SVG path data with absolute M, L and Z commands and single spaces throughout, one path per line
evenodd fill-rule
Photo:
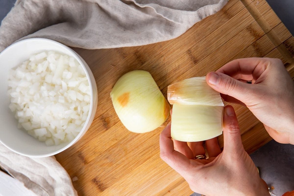
M 0 51 L 42 37 L 99 49 L 176 38 L 227 0 L 17 0 L 0 27 Z

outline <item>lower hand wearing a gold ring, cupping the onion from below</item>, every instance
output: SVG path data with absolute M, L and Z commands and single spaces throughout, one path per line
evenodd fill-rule
M 221 152 L 217 139 L 206 141 L 208 159 L 194 156 L 205 154 L 202 142 L 171 139 L 171 124 L 160 134 L 161 158 L 188 182 L 191 190 L 206 196 L 263 196 L 269 195 L 265 182 L 245 152 L 238 121 L 232 106 L 224 110 L 224 147 Z

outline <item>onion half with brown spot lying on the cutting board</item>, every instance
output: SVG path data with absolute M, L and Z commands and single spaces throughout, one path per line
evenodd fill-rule
M 161 126 L 170 106 L 148 71 L 135 70 L 118 79 L 110 93 L 113 107 L 123 125 L 135 133 Z

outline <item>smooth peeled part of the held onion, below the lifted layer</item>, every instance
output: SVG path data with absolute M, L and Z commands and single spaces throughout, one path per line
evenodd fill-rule
M 214 138 L 223 131 L 223 106 L 173 104 L 171 137 L 184 142 Z

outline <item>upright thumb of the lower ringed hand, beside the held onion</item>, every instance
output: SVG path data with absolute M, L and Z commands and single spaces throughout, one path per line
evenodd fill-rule
M 240 153 L 244 150 L 238 120 L 231 105 L 224 108 L 223 143 L 223 152 Z

